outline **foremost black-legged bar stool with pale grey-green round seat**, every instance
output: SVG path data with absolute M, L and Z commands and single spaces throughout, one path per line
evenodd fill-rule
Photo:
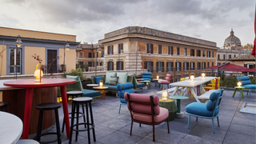
M 96 142 L 96 137 L 95 137 L 95 130 L 94 130 L 94 117 L 93 117 L 93 111 L 91 109 L 91 101 L 93 98 L 88 98 L 88 97 L 82 97 L 82 98 L 74 98 L 72 102 L 72 118 L 71 118 L 71 126 L 70 126 L 70 144 L 72 141 L 72 134 L 73 130 L 76 131 L 75 135 L 75 141 L 78 141 L 78 131 L 87 131 L 88 134 L 88 143 L 90 143 L 90 129 L 93 130 L 93 136 L 94 136 L 94 142 Z M 79 105 L 80 104 L 86 104 L 86 122 L 79 123 L 78 120 L 78 114 L 79 114 Z M 90 122 L 89 122 L 89 112 L 88 112 L 88 104 L 90 107 Z M 77 110 L 75 110 L 77 108 Z M 74 125 L 74 114 L 77 114 L 77 122 Z M 79 130 L 78 126 L 79 125 L 84 125 L 86 124 L 86 129 L 84 130 Z M 74 129 L 74 126 L 76 126 L 76 129 Z

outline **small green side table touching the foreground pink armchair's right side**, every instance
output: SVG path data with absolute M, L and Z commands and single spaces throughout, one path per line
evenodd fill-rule
M 169 110 L 169 117 L 168 120 L 172 121 L 174 120 L 176 113 L 178 111 L 178 108 L 174 102 L 173 99 L 168 98 L 166 101 L 163 101 L 162 98 L 159 99 L 159 106 L 164 107 L 167 110 Z

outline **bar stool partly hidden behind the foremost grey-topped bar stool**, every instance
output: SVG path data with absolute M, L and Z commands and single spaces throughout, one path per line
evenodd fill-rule
M 83 92 L 82 91 L 69 91 L 69 92 L 66 92 L 66 98 L 69 99 L 69 96 L 72 95 L 72 99 L 74 98 L 74 96 L 76 98 L 78 98 L 78 95 L 80 95 L 82 97 L 82 94 Z M 72 114 L 72 113 L 69 113 L 69 114 Z M 83 107 L 83 104 L 82 104 L 82 112 L 79 112 L 79 115 L 78 118 L 81 118 L 83 116 L 83 121 L 86 122 L 86 117 L 85 117 L 85 109 Z M 72 117 L 69 117 L 69 118 L 72 118 Z M 77 117 L 74 117 L 74 118 L 77 118 Z M 65 126 L 65 118 L 63 118 L 63 123 L 62 123 L 62 133 L 64 132 L 64 126 Z M 86 124 L 85 124 L 85 128 L 86 128 Z

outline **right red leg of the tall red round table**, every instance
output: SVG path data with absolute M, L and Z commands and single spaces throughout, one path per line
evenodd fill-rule
M 62 93 L 62 106 L 63 106 L 63 113 L 64 119 L 66 124 L 66 136 L 70 138 L 70 117 L 69 117 L 69 109 L 67 106 L 67 99 L 66 99 L 66 86 L 60 86 L 61 93 Z

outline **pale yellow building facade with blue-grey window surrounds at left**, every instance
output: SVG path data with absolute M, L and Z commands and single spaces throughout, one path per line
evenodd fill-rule
M 17 38 L 22 41 L 20 47 L 16 47 Z M 39 63 L 34 56 L 46 66 L 45 73 L 62 73 L 64 67 L 70 71 L 75 69 L 76 45 L 75 35 L 0 27 L 0 75 L 34 74 Z

